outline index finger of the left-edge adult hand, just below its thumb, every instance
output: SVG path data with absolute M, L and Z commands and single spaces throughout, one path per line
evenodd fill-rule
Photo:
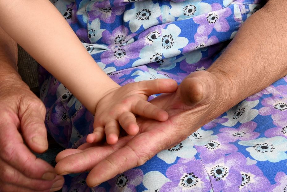
M 56 173 L 51 165 L 34 154 L 24 145 L 17 130 L 14 113 L 0 112 L 0 158 L 24 175 L 44 180 L 53 180 Z

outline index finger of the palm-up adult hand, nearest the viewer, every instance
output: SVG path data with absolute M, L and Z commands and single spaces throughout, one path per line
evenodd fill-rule
M 97 186 L 117 174 L 144 164 L 157 152 L 170 145 L 162 134 L 141 133 L 131 139 L 124 147 L 116 150 L 100 161 L 90 171 L 87 177 L 88 186 Z

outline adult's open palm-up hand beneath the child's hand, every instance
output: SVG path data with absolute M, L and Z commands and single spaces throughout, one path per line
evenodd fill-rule
M 162 94 L 151 101 L 169 113 L 167 121 L 139 118 L 139 134 L 134 137 L 122 137 L 115 145 L 85 143 L 78 149 L 64 150 L 56 157 L 55 170 L 62 175 L 91 170 L 86 181 L 88 186 L 96 186 L 142 165 L 223 113 L 225 89 L 215 75 L 207 71 L 194 72 L 182 81 L 176 92 Z

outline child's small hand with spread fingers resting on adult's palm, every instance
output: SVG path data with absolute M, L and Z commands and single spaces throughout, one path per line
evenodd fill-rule
M 107 143 L 115 144 L 120 134 L 120 126 L 129 135 L 137 134 L 139 126 L 134 114 L 166 121 L 168 113 L 149 103 L 148 96 L 175 92 L 177 87 L 174 80 L 155 79 L 129 83 L 109 92 L 96 106 L 94 132 L 88 134 L 87 142 L 101 141 L 106 135 Z

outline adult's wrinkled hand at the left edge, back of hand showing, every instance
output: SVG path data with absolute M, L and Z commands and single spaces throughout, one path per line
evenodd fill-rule
M 0 191 L 61 189 L 63 177 L 28 149 L 48 149 L 44 104 L 20 77 L 2 80 L 0 90 Z

